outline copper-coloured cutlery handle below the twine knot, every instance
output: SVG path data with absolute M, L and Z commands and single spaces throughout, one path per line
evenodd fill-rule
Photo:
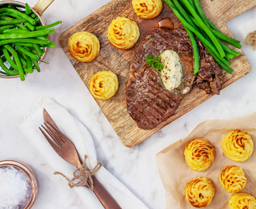
M 102 203 L 103 207 L 106 209 L 122 209 L 119 207 L 119 205 L 116 203 L 116 200 L 114 200 L 110 194 L 102 187 L 102 185 L 95 179 L 94 176 L 92 176 L 94 190 L 93 192 L 98 197 L 100 202 Z

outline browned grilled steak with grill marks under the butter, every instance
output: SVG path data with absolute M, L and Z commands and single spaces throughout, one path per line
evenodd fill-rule
M 193 84 L 207 94 L 220 93 L 223 84 L 220 67 L 201 43 L 198 46 L 200 67 L 197 75 L 193 74 L 192 44 L 184 29 L 157 29 L 137 46 L 126 86 L 126 108 L 138 127 L 154 128 L 173 115 Z M 147 55 L 157 57 L 164 50 L 174 50 L 182 63 L 182 82 L 172 91 L 164 87 L 161 71 L 147 64 Z

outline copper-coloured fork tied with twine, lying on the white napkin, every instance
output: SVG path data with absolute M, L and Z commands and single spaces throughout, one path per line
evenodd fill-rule
M 39 128 L 44 137 L 50 143 L 50 146 L 52 146 L 59 156 L 65 159 L 68 163 L 73 164 L 77 168 L 81 167 L 81 159 L 79 159 L 78 151 L 75 149 L 71 140 L 68 139 L 59 128 L 52 125 L 50 122 L 44 122 L 43 124 L 45 127 L 42 125 L 43 129 Z M 92 176 L 92 180 L 94 185 L 93 192 L 98 197 L 103 207 L 106 209 L 121 209 L 121 207 L 116 203 L 116 200 L 109 195 L 94 176 Z M 90 185 L 89 181 L 88 184 Z

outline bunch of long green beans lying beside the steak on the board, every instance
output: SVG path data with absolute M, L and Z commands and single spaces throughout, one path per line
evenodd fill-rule
M 237 57 L 240 53 L 230 49 L 223 41 L 240 49 L 240 41 L 232 39 L 220 32 L 206 15 L 203 14 L 199 0 L 164 0 L 182 22 L 191 39 L 194 52 L 194 74 L 199 72 L 199 52 L 195 36 L 199 38 L 202 45 L 213 56 L 229 74 L 233 72 L 230 68 L 230 59 Z M 194 36 L 195 35 L 195 36 Z

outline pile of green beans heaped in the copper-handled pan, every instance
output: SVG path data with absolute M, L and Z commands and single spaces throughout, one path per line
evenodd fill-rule
M 40 72 L 38 62 L 46 47 L 55 47 L 48 39 L 54 29 L 49 28 L 60 23 L 40 26 L 28 4 L 25 10 L 12 4 L 0 8 L 0 67 L 6 76 L 19 75 L 25 81 L 26 74 L 32 74 L 34 69 Z

